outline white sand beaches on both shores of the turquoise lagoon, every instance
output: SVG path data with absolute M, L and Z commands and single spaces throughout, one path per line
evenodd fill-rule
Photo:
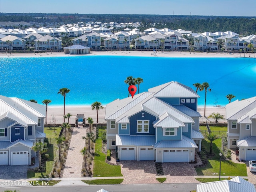
M 93 55 L 111 55 L 111 56 L 152 56 L 152 57 L 228 57 L 228 58 L 234 58 L 234 57 L 240 57 L 240 53 L 232 53 L 232 54 L 225 54 L 225 53 L 219 53 L 219 52 L 160 52 L 158 51 L 156 55 L 152 55 L 152 51 L 92 51 L 91 54 L 84 55 L 84 56 L 93 56 Z M 6 57 L 51 57 L 51 56 L 76 56 L 76 55 L 69 55 L 64 54 L 64 52 L 48 52 L 48 53 L 39 53 L 34 54 L 32 53 L 12 53 L 11 55 L 6 53 L 0 53 L 0 58 L 6 58 Z M 249 53 L 245 54 L 246 57 L 249 57 Z M 242 57 L 244 57 L 244 54 L 242 54 Z M 251 58 L 254 58 L 254 54 L 251 55 Z M 198 112 L 202 116 L 204 116 L 204 108 L 198 108 Z M 220 114 L 224 115 L 226 114 L 225 108 L 218 108 L 218 107 L 207 107 L 206 108 L 206 116 L 209 116 L 212 112 L 219 112 Z M 65 113 L 72 114 L 72 117 L 70 119 L 70 123 L 75 123 L 75 118 L 77 114 L 84 114 L 85 118 L 91 117 L 94 119 L 94 122 L 96 122 L 96 111 L 92 110 L 90 107 L 68 107 L 66 106 Z M 61 124 L 63 122 L 63 108 L 62 107 L 51 107 L 48 106 L 48 112 L 47 112 L 47 122 L 52 123 L 52 117 L 56 118 L 56 124 Z M 105 108 L 100 110 L 98 112 L 98 118 L 100 123 L 105 123 L 104 120 L 105 117 Z M 204 122 L 206 119 L 201 118 L 201 122 Z M 226 122 L 225 120 L 220 120 L 219 122 Z

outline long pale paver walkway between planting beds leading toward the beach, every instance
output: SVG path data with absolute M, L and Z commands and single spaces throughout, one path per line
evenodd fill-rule
M 82 126 L 74 127 L 68 156 L 63 172 L 63 178 L 80 178 L 82 172 L 83 155 L 80 150 L 85 146 L 85 140 L 82 136 L 86 136 L 86 128 Z

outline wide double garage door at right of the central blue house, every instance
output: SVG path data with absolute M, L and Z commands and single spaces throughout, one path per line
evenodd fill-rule
M 163 150 L 163 162 L 188 162 L 188 149 Z

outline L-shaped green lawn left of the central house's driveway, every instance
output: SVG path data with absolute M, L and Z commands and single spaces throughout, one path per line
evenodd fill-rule
M 106 154 L 102 153 L 102 140 L 96 140 L 95 143 L 95 156 L 93 165 L 94 177 L 114 177 L 123 176 L 121 174 L 121 167 L 118 165 L 110 165 L 105 162 Z

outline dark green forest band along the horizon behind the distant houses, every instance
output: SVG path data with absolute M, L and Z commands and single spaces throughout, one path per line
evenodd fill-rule
M 182 16 L 182 15 L 140 15 L 140 14 L 44 14 L 44 13 L 0 13 L 0 21 L 55 23 L 55 27 L 84 21 L 94 22 L 141 22 L 140 31 L 147 28 L 184 29 L 193 33 L 233 31 L 238 34 L 256 34 L 255 17 L 236 16 Z M 84 21 L 87 22 L 87 21 Z M 2 26 L 4 27 L 4 26 Z M 29 28 L 31 26 L 22 26 Z

